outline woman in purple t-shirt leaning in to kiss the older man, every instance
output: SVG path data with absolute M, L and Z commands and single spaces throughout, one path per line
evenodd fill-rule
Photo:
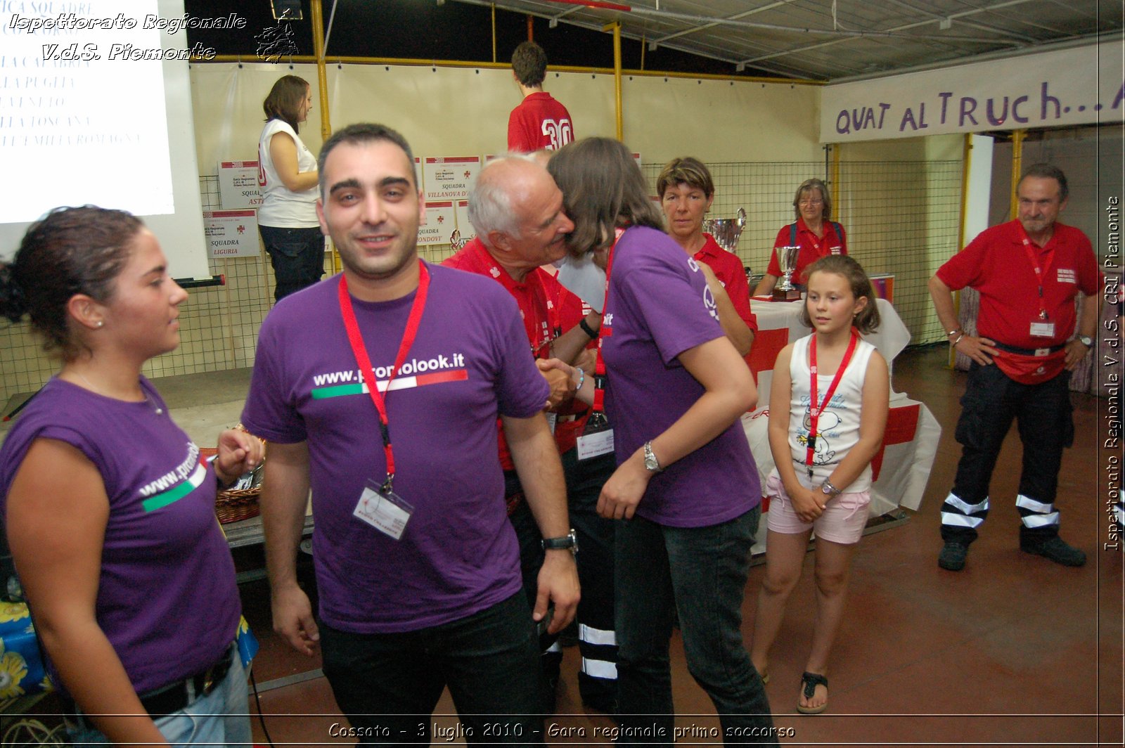
M 609 279 L 598 336 L 604 389 L 600 377 L 543 366 L 569 371 L 595 411 L 604 393 L 613 430 L 618 469 L 597 511 L 619 520 L 620 741 L 673 742 L 668 641 L 678 615 L 688 670 L 714 703 L 724 741 L 775 744 L 740 630 L 762 501 L 738 421 L 757 400 L 754 380 L 723 336 L 699 264 L 664 233 L 629 151 L 586 138 L 548 169 L 575 224 L 572 253 L 592 253 Z M 610 440 L 590 432 L 586 453 L 597 453 Z

